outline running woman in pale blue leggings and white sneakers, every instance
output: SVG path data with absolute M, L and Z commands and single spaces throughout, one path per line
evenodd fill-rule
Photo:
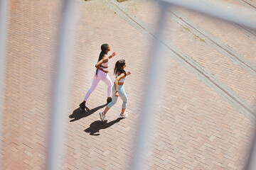
M 105 120 L 105 115 L 107 114 L 107 111 L 109 111 L 110 108 L 112 106 L 114 106 L 115 103 L 117 103 L 118 96 L 120 96 L 120 98 L 123 101 L 123 103 L 122 103 L 122 112 L 120 113 L 119 117 L 120 118 L 127 118 L 127 116 L 128 116 L 127 113 L 124 113 L 125 108 L 127 107 L 127 101 L 128 101 L 127 95 L 124 91 L 124 80 L 131 73 L 130 72 L 125 72 L 124 71 L 125 67 L 126 67 L 125 60 L 119 60 L 115 64 L 114 74 L 116 74 L 116 79 L 114 81 L 114 86 L 112 88 L 112 98 L 113 98 L 113 100 L 112 100 L 112 102 L 110 102 L 106 106 L 105 111 L 100 112 L 100 119 L 102 121 Z

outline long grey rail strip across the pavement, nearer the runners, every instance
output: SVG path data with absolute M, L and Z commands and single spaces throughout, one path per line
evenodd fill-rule
M 116 12 L 119 16 L 124 18 L 130 25 L 134 26 L 140 33 L 142 33 L 146 38 L 149 40 L 155 40 L 156 37 L 154 36 L 154 30 L 149 28 L 143 21 L 139 18 L 135 17 L 132 13 L 130 13 L 126 8 L 122 5 L 118 4 L 114 0 L 102 0 L 105 2 L 107 6 L 109 6 L 114 12 Z M 183 65 L 186 69 L 188 69 L 192 74 L 194 74 L 198 79 L 200 79 L 204 84 L 210 87 L 213 91 L 217 92 L 221 97 L 225 98 L 232 106 L 238 109 L 240 113 L 245 115 L 252 123 L 255 123 L 255 113 L 256 110 L 255 106 L 252 106 L 249 102 L 247 102 L 244 98 L 240 95 L 235 93 L 230 87 L 223 84 L 219 79 L 217 79 L 213 74 L 208 72 L 201 64 L 198 64 L 195 60 L 191 57 L 188 57 L 184 52 L 178 50 L 178 48 L 174 47 L 170 42 L 167 40 L 163 40 L 161 42 L 163 47 L 166 50 L 169 50 L 172 55 L 171 57 L 174 60 L 178 61 L 180 64 Z M 195 72 L 196 71 L 196 72 Z

